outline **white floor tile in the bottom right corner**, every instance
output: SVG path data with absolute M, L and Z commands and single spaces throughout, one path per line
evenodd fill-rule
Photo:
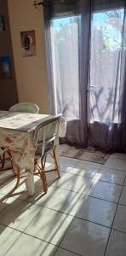
M 126 255 L 126 234 L 117 230 L 112 230 L 110 241 L 106 249 L 106 256 Z

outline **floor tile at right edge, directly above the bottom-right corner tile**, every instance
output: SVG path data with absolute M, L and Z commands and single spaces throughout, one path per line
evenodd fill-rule
M 115 230 L 126 232 L 126 207 L 119 205 L 114 220 L 113 228 Z

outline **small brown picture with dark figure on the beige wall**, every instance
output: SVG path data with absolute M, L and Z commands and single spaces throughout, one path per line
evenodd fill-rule
M 31 30 L 26 32 L 20 32 L 20 38 L 22 55 L 24 57 L 37 55 L 35 31 Z

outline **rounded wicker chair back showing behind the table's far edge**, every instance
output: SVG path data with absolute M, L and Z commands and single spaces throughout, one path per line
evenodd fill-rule
M 39 113 L 37 104 L 31 102 L 22 102 L 13 105 L 9 108 L 11 112 L 24 112 L 24 113 Z

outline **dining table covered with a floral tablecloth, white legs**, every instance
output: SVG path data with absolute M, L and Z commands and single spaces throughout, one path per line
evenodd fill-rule
M 37 148 L 33 140 L 34 131 L 37 125 L 51 118 L 52 115 L 49 114 L 0 110 L 0 148 L 10 150 L 15 169 L 18 167 L 20 170 L 26 170 L 29 195 L 34 195 L 34 158 Z M 55 144 L 59 165 L 59 137 L 55 138 Z

